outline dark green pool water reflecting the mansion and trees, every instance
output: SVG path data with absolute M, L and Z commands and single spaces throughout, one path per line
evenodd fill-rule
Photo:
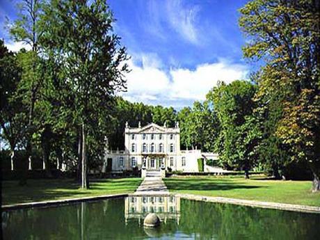
M 143 227 L 148 212 L 161 226 Z M 320 214 L 168 197 L 129 197 L 2 212 L 3 239 L 319 239 Z

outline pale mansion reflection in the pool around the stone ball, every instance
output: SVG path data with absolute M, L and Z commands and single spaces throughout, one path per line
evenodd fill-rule
M 138 219 L 139 225 L 147 214 L 155 213 L 161 222 L 168 219 L 179 224 L 180 198 L 175 195 L 129 195 L 125 198 L 125 222 L 129 219 Z

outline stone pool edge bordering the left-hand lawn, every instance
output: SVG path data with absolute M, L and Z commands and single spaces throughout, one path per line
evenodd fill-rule
M 131 193 L 117 193 L 117 194 L 108 194 L 108 195 L 97 195 L 83 198 L 65 198 L 60 200 L 47 200 L 41 202 L 24 202 L 17 203 L 13 205 L 1 205 L 1 211 L 3 210 L 13 210 L 13 209 L 24 209 L 30 207 L 45 207 L 45 206 L 54 206 L 54 205 L 64 205 L 72 202 L 82 202 L 86 200 L 102 200 L 109 198 L 123 198 L 127 197 Z

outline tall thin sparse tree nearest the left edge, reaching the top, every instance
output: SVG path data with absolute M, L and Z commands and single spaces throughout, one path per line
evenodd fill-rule
M 19 83 L 18 92 L 23 96 L 22 103 L 28 110 L 28 124 L 26 127 L 26 152 L 31 161 L 32 136 L 35 131 L 33 124 L 34 107 L 38 97 L 38 90 L 42 82 L 42 67 L 40 67 L 38 40 L 42 33 L 39 28 L 39 16 L 41 13 L 42 1 L 24 0 L 18 5 L 19 15 L 17 20 L 10 26 L 10 34 L 17 42 L 22 41 L 31 46 L 31 51 L 27 51 L 19 56 L 19 66 L 22 68 L 22 81 Z M 26 184 L 26 161 L 24 170 L 20 174 L 20 184 Z

